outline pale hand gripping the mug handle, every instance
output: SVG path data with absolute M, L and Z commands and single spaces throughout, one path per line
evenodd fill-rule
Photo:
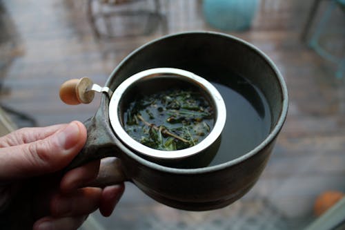
M 110 215 L 124 184 L 86 186 L 97 177 L 100 161 L 63 173 L 85 142 L 81 122 L 22 128 L 0 137 L 0 224 L 72 230 L 97 209 Z

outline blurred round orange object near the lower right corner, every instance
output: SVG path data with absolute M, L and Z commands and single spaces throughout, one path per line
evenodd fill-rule
M 339 191 L 326 191 L 321 193 L 315 200 L 314 213 L 319 216 L 331 208 L 339 200 L 342 200 L 344 193 Z

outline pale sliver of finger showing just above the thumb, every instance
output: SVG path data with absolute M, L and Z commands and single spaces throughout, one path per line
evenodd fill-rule
M 0 137 L 0 148 L 28 144 L 37 140 L 42 140 L 66 127 L 67 124 L 57 124 L 42 128 L 21 128 L 17 131 Z

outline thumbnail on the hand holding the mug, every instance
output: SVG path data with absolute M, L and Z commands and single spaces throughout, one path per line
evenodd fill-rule
M 76 122 L 71 122 L 63 128 L 63 130 L 57 133 L 57 138 L 59 140 L 60 146 L 63 146 L 64 149 L 69 149 L 75 146 L 79 139 L 79 126 Z

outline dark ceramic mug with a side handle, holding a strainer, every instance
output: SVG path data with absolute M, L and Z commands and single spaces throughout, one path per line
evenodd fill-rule
M 219 73 L 245 77 L 268 102 L 269 134 L 255 148 L 222 164 L 197 169 L 163 166 L 146 160 L 119 140 L 110 125 L 110 99 L 104 94 L 95 116 L 85 122 L 88 140 L 70 168 L 112 157 L 103 160 L 94 185 L 130 181 L 158 202 L 193 211 L 235 202 L 259 179 L 286 119 L 288 93 L 282 75 L 262 51 L 242 39 L 217 32 L 184 32 L 156 39 L 132 52 L 112 72 L 106 87 L 115 90 L 128 77 L 161 67 L 188 70 L 210 82 L 221 83 Z

